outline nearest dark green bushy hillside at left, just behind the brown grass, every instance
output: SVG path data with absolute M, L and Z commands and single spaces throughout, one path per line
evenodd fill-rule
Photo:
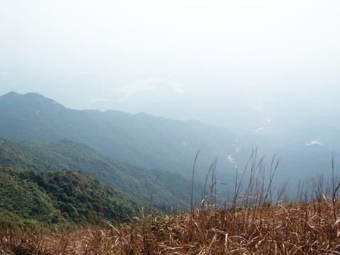
M 1 224 L 96 223 L 136 215 L 140 205 L 77 171 L 42 174 L 0 167 Z

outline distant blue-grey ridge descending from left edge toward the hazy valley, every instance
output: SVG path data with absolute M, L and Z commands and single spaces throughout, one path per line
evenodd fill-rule
M 191 176 L 193 160 L 201 148 L 196 169 L 201 181 L 217 155 L 222 169 L 219 176 L 227 179 L 234 171 L 228 156 L 237 148 L 239 153 L 234 157 L 250 152 L 234 133 L 196 120 L 183 122 L 120 111 L 75 111 L 33 93 L 1 96 L 0 108 L 0 136 L 51 142 L 66 138 L 124 162 L 179 171 L 186 177 Z

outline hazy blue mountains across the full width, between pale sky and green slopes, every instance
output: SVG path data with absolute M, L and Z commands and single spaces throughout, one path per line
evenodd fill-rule
M 271 130 L 271 120 L 266 120 L 256 132 L 234 129 L 232 132 L 196 120 L 169 120 L 146 113 L 76 111 L 34 93 L 11 92 L 0 96 L 0 108 L 2 137 L 47 142 L 67 139 L 121 162 L 177 172 L 188 180 L 192 178 L 196 153 L 201 149 L 195 179 L 203 183 L 217 157 L 217 180 L 227 183 L 228 188 L 222 189 L 228 191 L 234 183 L 236 167 L 243 171 L 256 147 L 259 158 L 265 154 L 268 161 L 272 154 L 281 158 L 276 172 L 278 185 L 285 179 L 308 178 L 317 171 L 329 174 L 332 151 L 338 158 L 340 125 L 330 118 L 323 122 L 313 118 L 302 122 L 301 118 L 295 128 L 282 125 L 283 130 Z M 298 119 L 297 114 L 294 116 Z

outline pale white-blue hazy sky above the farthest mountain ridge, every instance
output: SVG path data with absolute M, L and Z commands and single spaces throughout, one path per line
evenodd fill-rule
M 339 13 L 338 0 L 0 0 L 0 95 L 254 130 L 339 115 Z

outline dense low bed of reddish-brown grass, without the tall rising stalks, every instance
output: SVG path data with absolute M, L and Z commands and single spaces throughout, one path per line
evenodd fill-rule
M 332 200 L 149 215 L 135 222 L 23 232 L 3 229 L 1 254 L 340 254 Z M 336 220 L 334 219 L 334 210 Z

